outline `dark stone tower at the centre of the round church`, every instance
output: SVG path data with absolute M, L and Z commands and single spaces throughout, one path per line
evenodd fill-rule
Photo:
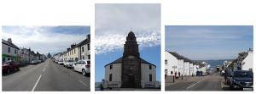
M 123 88 L 141 88 L 141 58 L 136 38 L 132 31 L 126 37 L 121 73 Z

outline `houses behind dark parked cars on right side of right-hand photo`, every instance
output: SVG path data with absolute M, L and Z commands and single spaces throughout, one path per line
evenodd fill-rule
M 230 65 L 231 63 L 234 64 L 233 68 Z M 229 71 L 234 70 L 251 70 L 253 72 L 253 50 L 249 48 L 247 53 L 238 53 L 238 57 L 234 58 L 232 62 L 224 62 L 224 69 Z M 233 70 L 232 70 L 233 69 Z

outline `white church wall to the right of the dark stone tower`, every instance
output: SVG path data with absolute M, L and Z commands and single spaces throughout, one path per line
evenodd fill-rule
M 152 75 L 152 81 L 156 81 L 155 66 L 151 65 L 151 69 L 149 69 L 149 65 L 141 64 L 142 80 L 149 81 L 149 75 Z

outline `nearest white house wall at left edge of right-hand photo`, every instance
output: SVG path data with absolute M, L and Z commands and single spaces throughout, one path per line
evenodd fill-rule
M 177 58 L 172 56 L 171 53 L 164 52 L 164 60 L 167 60 L 167 64 L 164 63 L 164 70 L 167 69 L 166 75 L 171 75 L 171 71 L 174 72 L 174 69 L 172 69 L 172 66 L 177 66 Z M 175 69 L 177 70 L 177 69 Z

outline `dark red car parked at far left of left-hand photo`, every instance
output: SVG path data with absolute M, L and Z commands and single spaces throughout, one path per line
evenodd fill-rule
M 9 74 L 10 71 L 13 69 L 20 70 L 20 64 L 15 60 L 6 60 L 3 62 L 2 71 L 5 71 L 6 73 Z

